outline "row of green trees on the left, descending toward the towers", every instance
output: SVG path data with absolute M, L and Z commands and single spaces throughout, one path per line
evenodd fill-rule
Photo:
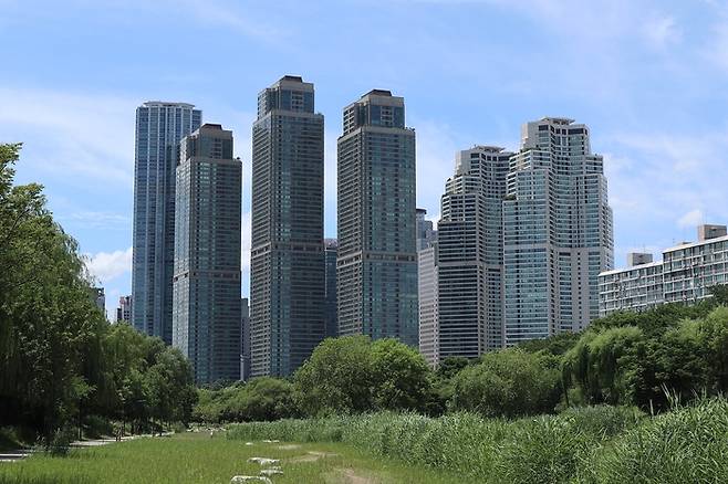
M 0 145 L 0 427 L 51 435 L 87 421 L 187 421 L 183 355 L 94 303 L 76 242 L 40 185 L 14 186 L 20 145 Z

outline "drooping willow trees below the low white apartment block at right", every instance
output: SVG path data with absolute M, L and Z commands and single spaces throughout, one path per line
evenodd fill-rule
M 728 390 L 728 308 L 717 303 L 622 313 L 590 326 L 563 357 L 564 378 L 587 403 L 657 411 Z

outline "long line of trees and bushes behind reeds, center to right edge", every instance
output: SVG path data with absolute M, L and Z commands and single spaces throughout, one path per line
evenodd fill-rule
M 554 413 L 599 403 L 655 413 L 670 402 L 728 391 L 726 287 L 693 306 L 664 305 L 595 320 L 433 370 L 393 339 L 326 339 L 290 378 L 200 390 L 194 419 L 262 421 L 379 410 L 485 417 Z

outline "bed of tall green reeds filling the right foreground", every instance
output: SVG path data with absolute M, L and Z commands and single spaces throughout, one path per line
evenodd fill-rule
M 232 425 L 229 439 L 344 442 L 480 483 L 728 482 L 728 401 L 654 418 L 584 407 L 520 420 L 372 413 Z

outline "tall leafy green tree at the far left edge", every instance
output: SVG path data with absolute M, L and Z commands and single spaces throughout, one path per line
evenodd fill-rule
M 42 187 L 13 186 L 19 149 L 0 146 L 0 419 L 50 433 L 96 391 L 84 370 L 105 318 Z

